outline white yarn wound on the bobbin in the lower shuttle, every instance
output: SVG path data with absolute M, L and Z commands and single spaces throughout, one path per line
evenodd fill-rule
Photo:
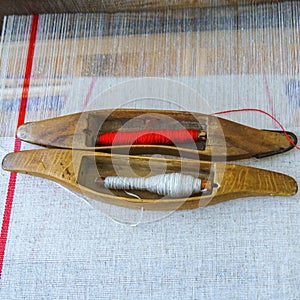
M 164 196 L 186 197 L 201 191 L 201 179 L 180 173 L 137 178 L 108 176 L 104 179 L 104 187 L 120 190 L 147 190 Z

